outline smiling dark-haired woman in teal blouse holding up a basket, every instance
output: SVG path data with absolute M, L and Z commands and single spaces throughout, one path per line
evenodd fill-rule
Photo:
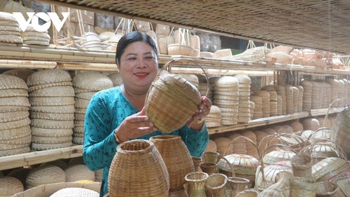
M 123 83 L 96 93 L 85 114 L 83 158 L 90 170 L 104 169 L 101 196 L 109 191 L 109 169 L 118 144 L 165 135 L 155 128 L 145 112 L 146 95 L 158 74 L 153 39 L 141 32 L 125 34 L 118 42 L 116 64 Z M 197 157 L 207 147 L 209 135 L 205 123 L 196 121 L 209 114 L 211 101 L 200 97 L 199 103 L 198 112 L 186 125 L 167 133 L 181 136 L 190 155 Z

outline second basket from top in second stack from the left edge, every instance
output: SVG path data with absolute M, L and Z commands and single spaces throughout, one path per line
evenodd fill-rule
M 71 86 L 47 87 L 29 93 L 29 97 L 73 97 L 74 95 L 74 88 Z

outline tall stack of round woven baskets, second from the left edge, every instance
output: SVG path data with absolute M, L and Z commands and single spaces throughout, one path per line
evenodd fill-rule
M 68 72 L 45 69 L 27 79 L 31 117 L 31 149 L 72 145 L 74 90 Z

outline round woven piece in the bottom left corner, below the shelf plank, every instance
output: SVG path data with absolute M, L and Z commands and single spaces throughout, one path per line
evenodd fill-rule
M 12 196 L 24 191 L 22 182 L 15 177 L 0 176 L 0 196 Z

